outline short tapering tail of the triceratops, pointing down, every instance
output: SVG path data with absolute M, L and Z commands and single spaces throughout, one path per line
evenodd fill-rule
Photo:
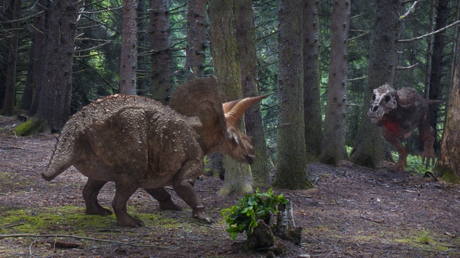
M 56 144 L 54 153 L 51 157 L 50 163 L 48 164 L 46 171 L 42 172 L 44 180 L 51 181 L 54 177 L 67 170 L 72 165 L 74 142 L 71 139 L 66 139 L 61 134 L 59 141 Z

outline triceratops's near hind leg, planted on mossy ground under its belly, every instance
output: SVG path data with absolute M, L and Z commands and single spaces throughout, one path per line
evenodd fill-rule
M 115 211 L 115 216 L 117 216 L 117 225 L 137 228 L 144 225 L 144 223 L 127 213 L 126 203 L 139 187 L 130 183 L 129 180 L 126 181 L 115 182 L 115 197 L 112 201 L 112 207 L 113 211 Z

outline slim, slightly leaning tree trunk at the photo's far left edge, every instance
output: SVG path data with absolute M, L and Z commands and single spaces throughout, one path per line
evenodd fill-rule
M 6 90 L 3 115 L 11 116 L 16 99 L 16 64 L 18 61 L 19 18 L 21 18 L 22 0 L 15 0 L 13 6 L 13 22 L 9 42 L 8 71 L 6 75 Z

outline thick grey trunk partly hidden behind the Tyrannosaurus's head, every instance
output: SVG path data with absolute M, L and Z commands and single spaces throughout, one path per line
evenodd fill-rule
M 396 35 L 402 0 L 376 1 L 372 52 L 369 58 L 369 76 L 364 101 L 370 101 L 374 88 L 384 83 L 393 85 L 396 69 Z M 363 105 L 360 126 L 353 146 L 352 163 L 378 168 L 385 159 L 386 142 L 381 131 L 367 117 L 369 106 Z

